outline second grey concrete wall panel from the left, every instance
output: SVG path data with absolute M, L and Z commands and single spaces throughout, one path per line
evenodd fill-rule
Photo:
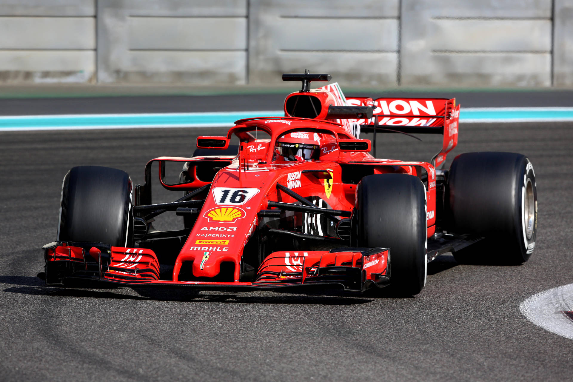
M 99 82 L 244 84 L 246 0 L 100 0 Z

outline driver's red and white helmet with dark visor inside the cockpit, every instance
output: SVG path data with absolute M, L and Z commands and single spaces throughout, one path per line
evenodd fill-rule
M 318 133 L 308 131 L 286 133 L 278 137 L 274 144 L 274 152 L 278 160 L 294 162 L 316 160 L 320 155 L 320 139 Z

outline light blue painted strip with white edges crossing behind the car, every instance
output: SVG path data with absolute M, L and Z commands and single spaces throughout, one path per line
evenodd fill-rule
M 0 117 L 0 131 L 116 129 L 152 127 L 229 127 L 249 117 L 281 116 L 282 111 L 94 114 Z M 464 108 L 463 123 L 573 121 L 572 108 Z

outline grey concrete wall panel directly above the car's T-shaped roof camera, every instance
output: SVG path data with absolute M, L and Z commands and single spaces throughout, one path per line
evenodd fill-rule
M 280 82 L 280 73 L 331 73 L 348 85 L 395 84 L 397 0 L 261 0 L 249 7 L 249 82 Z

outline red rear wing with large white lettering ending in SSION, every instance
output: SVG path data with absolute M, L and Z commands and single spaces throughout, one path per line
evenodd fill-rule
M 460 105 L 456 105 L 455 98 L 346 97 L 346 100 L 351 105 L 374 109 L 372 118 L 358 120 L 360 131 L 374 133 L 374 141 L 376 132 L 443 134 L 442 149 L 431 159 L 436 168 L 444 164 L 446 155 L 458 143 Z

